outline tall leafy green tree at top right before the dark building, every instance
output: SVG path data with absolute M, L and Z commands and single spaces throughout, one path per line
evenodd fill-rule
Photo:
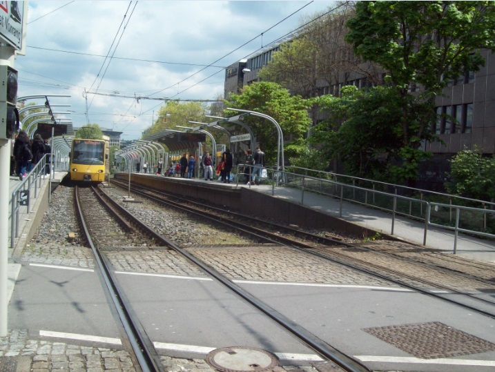
M 435 97 L 447 81 L 483 65 L 479 49 L 495 46 L 494 2 L 360 1 L 347 27 L 356 55 L 380 64 L 396 89 L 402 115 L 394 125 L 407 164 L 396 173 L 413 179 L 421 141 L 436 138 Z M 424 89 L 411 94 L 411 86 Z

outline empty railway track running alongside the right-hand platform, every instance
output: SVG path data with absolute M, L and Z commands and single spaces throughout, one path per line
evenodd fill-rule
M 123 188 L 128 187 L 122 182 L 113 183 Z M 427 255 L 414 253 L 414 258 L 403 257 L 404 252 L 402 254 L 397 252 L 400 250 L 390 252 L 390 242 L 375 242 L 373 245 L 349 244 L 342 242 L 341 239 L 307 233 L 291 226 L 261 222 L 258 218 L 225 211 L 190 199 L 182 199 L 144 186 L 131 190 L 135 195 L 146 197 L 167 207 L 179 208 L 225 226 L 238 228 L 259 239 L 266 239 L 267 242 L 285 244 L 412 291 L 437 297 L 495 318 L 495 302 L 486 296 L 495 293 L 494 268 L 488 264 L 472 263 L 458 257 L 452 257 L 451 262 L 445 255 L 438 253 Z M 418 260 L 418 256 L 421 260 Z M 404 269 L 393 269 L 400 266 Z M 445 283 L 450 284 L 445 285 Z M 456 299 L 451 298 L 453 294 Z M 483 295 L 485 297 L 482 297 Z

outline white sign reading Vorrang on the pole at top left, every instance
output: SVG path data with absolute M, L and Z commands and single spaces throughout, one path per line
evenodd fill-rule
M 0 39 L 16 50 L 23 48 L 23 24 L 24 1 L 0 1 Z

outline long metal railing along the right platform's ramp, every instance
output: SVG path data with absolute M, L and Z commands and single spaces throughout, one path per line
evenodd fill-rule
M 238 175 L 246 175 L 247 172 L 242 172 L 242 167 L 237 167 Z M 251 166 L 249 166 L 251 167 Z M 263 183 L 271 184 L 272 195 L 275 195 L 280 188 L 297 188 L 301 191 L 300 204 L 304 204 L 305 193 L 316 193 L 325 197 L 331 197 L 338 199 L 339 217 L 342 217 L 343 202 L 351 202 L 355 204 L 361 204 L 367 208 L 374 208 L 380 211 L 385 211 L 391 215 L 391 235 L 394 235 L 394 227 L 396 223 L 396 216 L 402 215 L 403 217 L 414 219 L 424 223 L 423 232 L 423 245 L 426 245 L 427 231 L 429 226 L 436 226 L 439 228 L 445 228 L 447 230 L 454 231 L 454 253 L 456 253 L 458 232 L 467 233 L 470 235 L 478 235 L 489 239 L 495 238 L 495 235 L 487 232 L 487 222 L 490 220 L 495 224 L 495 210 L 487 209 L 487 206 L 494 207 L 494 203 L 484 202 L 476 199 L 469 199 L 465 197 L 456 197 L 456 195 L 448 195 L 443 193 L 429 192 L 427 190 L 420 190 L 414 188 L 408 188 L 407 186 L 399 186 L 394 184 L 386 184 L 385 182 L 374 182 L 369 179 L 362 179 L 371 184 L 371 188 L 362 186 L 356 186 L 356 177 L 349 177 L 352 183 L 338 182 L 329 175 L 326 178 L 314 177 L 311 175 L 305 175 L 300 173 L 291 173 L 282 170 L 275 170 L 273 168 L 266 169 L 266 179 Z M 313 171 L 318 173 L 319 171 Z M 340 176 L 340 175 L 339 175 Z M 347 176 L 341 176 L 347 177 Z M 237 177 L 236 177 L 237 178 Z M 327 179 L 330 178 L 330 179 Z M 237 179 L 237 184 L 239 180 Z M 374 184 L 381 184 L 382 186 L 391 187 L 394 190 L 393 193 L 377 190 Z M 276 186 L 276 187 L 275 187 Z M 417 191 L 420 197 L 400 195 L 398 190 L 400 187 L 407 188 L 409 191 Z M 411 193 L 411 194 L 418 194 Z M 427 201 L 423 199 L 425 193 L 436 194 L 441 197 L 447 197 L 449 204 Z M 474 205 L 481 204 L 483 208 L 477 208 L 476 206 L 464 206 L 453 204 L 453 201 L 462 200 L 464 203 L 469 202 Z M 463 213 L 461 213 L 461 211 Z

